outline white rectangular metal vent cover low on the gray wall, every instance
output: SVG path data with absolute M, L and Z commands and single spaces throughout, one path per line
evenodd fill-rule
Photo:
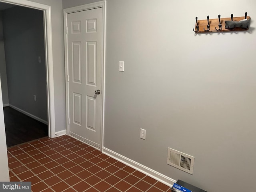
M 168 148 L 167 164 L 174 166 L 182 171 L 193 174 L 194 157 Z

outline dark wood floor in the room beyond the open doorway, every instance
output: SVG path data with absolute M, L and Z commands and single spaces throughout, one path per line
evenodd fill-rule
M 4 107 L 7 147 L 48 136 L 48 126 L 10 107 Z

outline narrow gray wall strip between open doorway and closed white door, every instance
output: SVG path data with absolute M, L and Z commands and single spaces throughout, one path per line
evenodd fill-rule
M 30 0 L 51 6 L 55 131 L 66 129 L 65 62 L 62 0 Z

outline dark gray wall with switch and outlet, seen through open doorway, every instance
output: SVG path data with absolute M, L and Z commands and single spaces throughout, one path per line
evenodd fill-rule
M 9 104 L 47 121 L 43 12 L 15 6 L 2 15 Z

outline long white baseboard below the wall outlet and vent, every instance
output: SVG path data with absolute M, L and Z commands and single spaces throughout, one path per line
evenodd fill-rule
M 138 162 L 135 162 L 134 160 L 131 160 L 131 159 L 125 157 L 125 156 L 122 156 L 122 155 L 120 155 L 120 154 L 118 154 L 118 153 L 116 153 L 116 152 L 114 152 L 114 151 L 112 151 L 108 148 L 103 147 L 102 148 L 102 153 L 104 153 L 104 154 L 106 154 L 106 155 L 108 155 L 108 156 L 110 156 L 110 157 L 112 157 L 112 158 L 114 158 L 114 159 L 116 159 L 116 160 L 118 160 L 118 161 L 120 161 L 120 162 L 122 162 L 122 163 L 124 163 L 124 164 L 126 164 L 126 165 L 128 165 L 128 166 L 130 166 L 130 167 L 132 167 L 132 168 L 150 176 L 150 177 L 152 177 L 152 178 L 154 178 L 155 180 L 158 180 L 159 182 L 162 182 L 163 184 L 166 184 L 167 186 L 172 187 L 173 184 L 176 182 L 176 180 L 174 180 L 172 178 L 169 178 L 169 177 L 167 177 L 167 176 L 165 176 L 165 175 L 163 175 L 159 172 L 156 172 L 155 170 L 152 170 L 152 169 L 150 169 L 150 168 L 148 168 L 148 167 L 146 167 L 146 166 L 144 166 L 144 165 L 142 165 Z

